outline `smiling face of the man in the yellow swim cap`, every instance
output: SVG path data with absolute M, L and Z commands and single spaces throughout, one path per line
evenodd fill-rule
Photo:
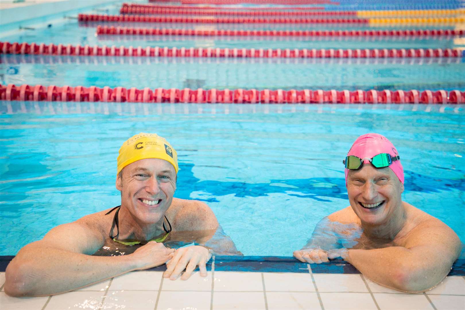
M 171 205 L 176 190 L 176 171 L 163 159 L 135 161 L 116 178 L 121 205 L 140 222 L 156 223 Z

